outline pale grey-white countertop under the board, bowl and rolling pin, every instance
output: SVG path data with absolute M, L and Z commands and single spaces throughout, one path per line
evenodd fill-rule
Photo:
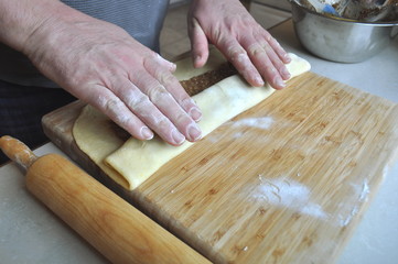
M 398 102 L 398 37 L 379 55 L 359 64 L 316 58 L 298 43 L 290 21 L 270 30 L 289 52 L 306 58 L 312 72 Z M 52 143 L 36 154 L 61 153 Z M 398 164 L 390 167 L 340 264 L 398 263 Z M 32 197 L 14 164 L 0 167 L 1 263 L 107 263 L 90 245 Z

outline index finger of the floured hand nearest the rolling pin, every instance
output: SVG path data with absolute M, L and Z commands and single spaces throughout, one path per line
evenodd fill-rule
M 144 67 L 165 89 L 173 96 L 174 100 L 185 110 L 194 120 L 200 121 L 202 111 L 192 98 L 186 94 L 180 81 L 169 72 L 164 72 L 157 62 L 151 59 L 144 61 Z

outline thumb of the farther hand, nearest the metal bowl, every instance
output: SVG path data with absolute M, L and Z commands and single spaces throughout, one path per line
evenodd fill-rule
M 189 28 L 189 34 L 194 67 L 203 67 L 208 58 L 208 42 L 206 34 L 196 19 L 192 19 Z

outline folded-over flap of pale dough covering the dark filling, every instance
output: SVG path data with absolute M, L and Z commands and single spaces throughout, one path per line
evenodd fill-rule
M 311 69 L 310 63 L 305 59 L 295 54 L 289 55 L 292 62 L 287 67 L 291 73 L 291 78 Z M 203 136 L 256 106 L 273 91 L 275 89 L 268 84 L 263 88 L 251 87 L 239 76 L 234 75 L 194 96 L 193 99 L 203 111 L 200 123 Z M 223 105 L 219 105 L 219 101 L 223 101 Z M 171 146 L 159 138 L 147 142 L 130 138 L 119 150 L 108 155 L 104 163 L 118 174 L 109 176 L 115 180 L 119 178 L 118 182 L 120 177 L 123 177 L 126 182 L 122 186 L 131 190 L 192 145 L 193 143 L 185 142 L 181 146 Z

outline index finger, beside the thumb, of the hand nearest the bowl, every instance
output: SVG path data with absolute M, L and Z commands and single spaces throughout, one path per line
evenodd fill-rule
M 247 52 L 235 40 L 220 41 L 216 44 L 239 74 L 252 86 L 263 86 L 261 75 L 252 65 Z

